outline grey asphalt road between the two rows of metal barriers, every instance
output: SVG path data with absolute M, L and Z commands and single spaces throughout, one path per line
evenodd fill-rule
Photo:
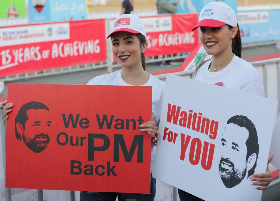
M 276 48 L 276 45 L 266 45 L 266 46 L 255 46 L 247 47 L 242 49 L 242 58 L 251 58 L 257 56 L 264 56 L 269 54 L 280 53 L 280 50 Z M 161 67 L 160 63 L 148 63 L 146 70 L 148 72 L 159 72 L 164 70 L 178 69 L 181 66 L 173 67 Z M 73 72 L 60 75 L 52 75 L 47 77 L 39 77 L 32 79 L 17 80 L 5 83 L 5 89 L 0 94 L 0 98 L 7 97 L 8 93 L 8 84 L 17 83 L 17 84 L 84 84 L 87 83 L 93 77 L 96 77 L 101 74 L 106 74 L 106 68 L 94 69 L 81 72 Z

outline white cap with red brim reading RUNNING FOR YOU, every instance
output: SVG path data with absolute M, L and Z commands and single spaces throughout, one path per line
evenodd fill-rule
M 221 27 L 228 24 L 232 27 L 237 26 L 237 17 L 232 8 L 223 2 L 211 2 L 204 6 L 199 14 L 197 27 Z

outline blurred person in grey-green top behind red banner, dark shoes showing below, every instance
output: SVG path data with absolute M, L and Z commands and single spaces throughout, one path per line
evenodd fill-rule
M 170 3 L 169 0 L 157 0 L 157 12 L 158 14 L 175 14 L 177 13 L 177 4 L 178 1 Z M 162 61 L 160 64 L 161 67 L 172 67 L 172 65 L 182 65 L 183 60 L 168 60 Z

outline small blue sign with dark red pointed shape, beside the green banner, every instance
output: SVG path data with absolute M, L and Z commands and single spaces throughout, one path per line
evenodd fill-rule
M 50 22 L 49 3 L 49 0 L 29 0 L 29 22 Z

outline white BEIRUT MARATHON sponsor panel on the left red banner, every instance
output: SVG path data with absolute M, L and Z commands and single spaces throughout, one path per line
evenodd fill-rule
M 52 29 L 57 30 L 54 36 Z M 0 47 L 70 39 L 69 22 L 1 28 L 0 34 Z

